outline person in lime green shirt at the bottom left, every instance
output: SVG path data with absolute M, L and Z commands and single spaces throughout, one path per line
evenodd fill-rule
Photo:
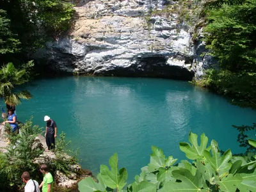
M 52 192 L 53 188 L 53 177 L 49 172 L 49 168 L 46 164 L 41 164 L 40 172 L 44 175 L 44 180 L 41 182 L 39 188 L 42 188 L 42 192 Z

